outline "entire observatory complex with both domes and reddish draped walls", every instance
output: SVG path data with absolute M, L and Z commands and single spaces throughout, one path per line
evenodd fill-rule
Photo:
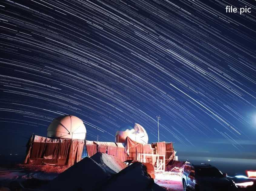
M 138 123 L 131 130 L 116 132 L 115 142 L 85 141 L 85 138 L 86 128 L 81 119 L 59 116 L 49 125 L 47 137 L 31 136 L 24 163 L 71 166 L 81 161 L 85 151 L 88 157 L 102 152 L 121 161 L 148 162 L 156 165 L 158 170 L 164 170 L 176 159 L 172 142 L 148 144 L 148 134 Z

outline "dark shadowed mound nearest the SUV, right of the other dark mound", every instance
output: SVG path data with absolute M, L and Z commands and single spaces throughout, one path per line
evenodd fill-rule
M 137 162 L 115 174 L 94 191 L 164 191 L 148 178 L 146 167 Z

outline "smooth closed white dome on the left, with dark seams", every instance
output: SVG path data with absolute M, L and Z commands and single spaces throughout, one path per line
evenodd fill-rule
M 71 115 L 57 117 L 47 129 L 47 137 L 49 138 L 84 140 L 85 136 L 86 128 L 83 121 Z

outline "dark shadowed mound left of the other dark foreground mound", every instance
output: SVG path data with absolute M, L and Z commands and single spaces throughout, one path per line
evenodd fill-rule
M 38 189 L 48 191 L 90 191 L 110 177 L 111 175 L 103 167 L 91 158 L 86 157 Z

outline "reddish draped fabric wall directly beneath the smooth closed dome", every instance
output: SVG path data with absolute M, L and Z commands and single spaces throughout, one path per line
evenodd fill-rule
M 53 139 L 35 135 L 33 142 L 30 140 L 30 145 L 31 150 L 27 155 L 28 162 L 64 166 L 73 165 L 81 160 L 84 141 Z

